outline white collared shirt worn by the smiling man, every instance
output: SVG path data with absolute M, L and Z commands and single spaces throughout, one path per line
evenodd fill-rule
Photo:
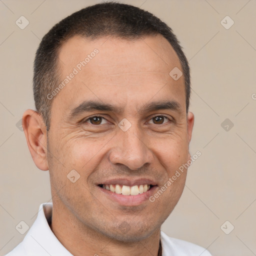
M 49 227 L 47 220 L 51 219 L 51 213 L 52 203 L 42 203 L 39 206 L 37 218 L 23 241 L 5 256 L 72 256 Z M 162 231 L 160 240 L 162 256 L 211 256 L 203 247 L 171 238 Z

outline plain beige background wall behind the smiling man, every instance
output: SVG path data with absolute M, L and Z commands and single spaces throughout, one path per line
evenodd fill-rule
M 36 168 L 16 126 L 22 112 L 34 108 L 35 50 L 57 21 L 97 2 L 0 0 L 0 255 L 23 239 L 15 226 L 21 220 L 31 226 L 39 204 L 51 200 L 48 172 Z M 189 168 L 183 195 L 162 230 L 213 255 L 256 255 L 256 1 L 121 2 L 172 27 L 191 66 L 190 152 L 202 155 Z M 15 24 L 21 15 L 29 21 L 23 30 Z M 226 15 L 234 21 L 229 29 L 220 23 Z M 228 131 L 220 125 L 226 118 L 234 124 Z M 229 234 L 220 228 L 226 220 L 234 226 Z

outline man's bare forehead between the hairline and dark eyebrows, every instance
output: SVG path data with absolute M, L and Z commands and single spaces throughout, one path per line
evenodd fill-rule
M 176 81 L 169 75 L 181 65 L 161 35 L 134 40 L 74 36 L 61 46 L 58 58 L 64 86 L 54 97 L 52 110 L 62 104 L 68 111 L 88 99 L 138 107 L 150 99 L 173 98 L 185 108 L 183 75 Z

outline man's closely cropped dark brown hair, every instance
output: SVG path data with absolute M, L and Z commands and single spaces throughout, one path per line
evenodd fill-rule
M 161 34 L 178 55 L 185 79 L 186 111 L 190 97 L 188 61 L 172 29 L 152 13 L 138 7 L 105 2 L 88 6 L 72 13 L 55 24 L 42 38 L 35 54 L 33 94 L 36 110 L 42 115 L 47 130 L 50 125 L 52 100 L 47 95 L 57 86 L 58 51 L 63 42 L 74 35 L 89 39 L 115 36 L 136 39 L 145 35 Z

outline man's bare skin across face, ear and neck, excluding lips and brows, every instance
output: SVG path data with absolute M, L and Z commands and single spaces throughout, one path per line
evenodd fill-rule
M 23 115 L 33 160 L 50 173 L 51 229 L 73 255 L 157 255 L 160 226 L 180 198 L 186 170 L 154 202 L 138 205 L 117 203 L 98 184 L 150 178 L 160 188 L 187 162 L 193 114 L 185 110 L 184 77 L 175 81 L 169 75 L 181 65 L 161 35 L 133 41 L 74 36 L 59 52 L 61 81 L 95 48 L 99 52 L 51 99 L 48 132 L 37 112 Z M 84 100 L 114 104 L 119 111 L 70 117 Z M 143 110 L 146 103 L 166 100 L 180 109 Z M 90 123 L 94 114 L 103 117 L 102 124 Z M 162 115 L 164 122 L 155 123 L 153 117 Z M 131 124 L 125 132 L 118 127 L 123 118 Z M 80 175 L 74 183 L 67 178 L 72 169 Z

